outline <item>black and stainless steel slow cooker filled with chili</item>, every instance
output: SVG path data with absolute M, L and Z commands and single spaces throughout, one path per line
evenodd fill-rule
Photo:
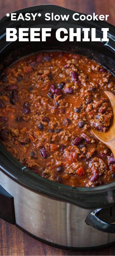
M 45 13 L 70 15 L 67 21 L 49 20 Z M 0 73 L 17 59 L 36 51 L 60 50 L 80 53 L 102 64 L 113 74 L 114 27 L 102 21 L 75 21 L 75 13 L 56 5 L 39 5 L 16 11 L 41 13 L 35 21 L 0 21 Z M 81 14 L 80 14 L 81 15 Z M 6 28 L 52 28 L 46 42 L 6 42 Z M 57 28 L 109 28 L 108 42 L 59 42 Z M 81 35 L 83 37 L 83 35 Z M 24 232 L 51 246 L 77 250 L 99 248 L 115 241 L 115 183 L 84 188 L 57 184 L 32 173 L 19 163 L 0 143 L 0 217 L 21 228 Z

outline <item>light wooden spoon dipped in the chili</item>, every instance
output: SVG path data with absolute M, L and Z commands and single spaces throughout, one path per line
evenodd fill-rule
M 107 145 L 113 153 L 115 158 L 115 96 L 112 92 L 105 91 L 108 96 L 112 108 L 113 108 L 113 121 L 107 132 L 100 132 L 94 129 L 91 129 L 92 134 L 105 145 Z

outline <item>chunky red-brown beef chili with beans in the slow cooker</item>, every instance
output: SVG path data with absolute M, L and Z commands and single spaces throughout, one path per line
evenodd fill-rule
M 0 81 L 0 140 L 32 172 L 94 187 L 115 180 L 115 160 L 91 127 L 106 132 L 113 110 L 104 93 L 115 79 L 93 60 L 38 52 L 5 69 Z

